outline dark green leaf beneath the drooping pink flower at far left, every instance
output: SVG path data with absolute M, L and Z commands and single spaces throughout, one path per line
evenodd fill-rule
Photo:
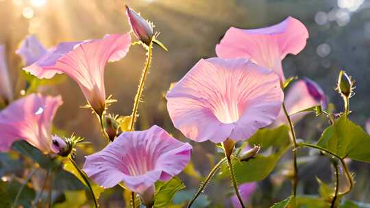
M 19 153 L 31 158 L 36 161 L 42 168 L 49 169 L 50 166 L 53 166 L 53 159 L 48 155 L 44 155 L 37 148 L 28 144 L 23 140 L 18 140 L 13 142 L 12 148 Z

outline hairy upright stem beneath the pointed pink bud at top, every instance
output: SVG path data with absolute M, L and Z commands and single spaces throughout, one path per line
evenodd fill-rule
M 136 116 L 138 114 L 138 105 L 140 103 L 141 95 L 143 94 L 145 80 L 147 79 L 147 75 L 149 73 L 149 68 L 151 64 L 152 47 L 153 47 L 153 42 L 150 42 L 148 49 L 147 49 L 147 60 L 145 62 L 143 73 L 141 74 L 140 82 L 138 85 L 138 91 L 136 92 L 135 99 L 134 99 L 134 107 L 132 108 L 132 114 L 131 114 L 132 118 L 130 122 L 130 131 L 134 131 Z

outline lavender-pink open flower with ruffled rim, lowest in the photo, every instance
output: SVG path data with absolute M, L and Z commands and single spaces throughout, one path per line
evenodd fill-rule
M 109 188 L 123 182 L 143 202 L 151 203 L 154 183 L 179 174 L 190 160 L 191 146 L 153 126 L 127 131 L 99 153 L 86 157 L 83 170 L 99 185 Z

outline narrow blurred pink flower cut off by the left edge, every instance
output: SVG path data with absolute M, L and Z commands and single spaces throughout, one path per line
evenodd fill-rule
M 6 64 L 5 46 L 0 44 L 0 100 L 6 103 L 12 101 L 13 90 L 10 82 L 8 65 Z

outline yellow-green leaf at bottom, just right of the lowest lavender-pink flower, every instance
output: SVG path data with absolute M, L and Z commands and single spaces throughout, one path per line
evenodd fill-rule
M 167 182 L 156 183 L 156 194 L 154 194 L 154 208 L 169 207 L 176 192 L 184 189 L 185 185 L 177 177 Z

